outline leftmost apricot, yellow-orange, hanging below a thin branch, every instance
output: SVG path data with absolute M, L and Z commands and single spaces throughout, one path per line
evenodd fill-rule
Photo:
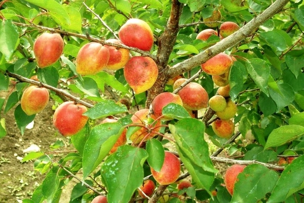
M 31 85 L 21 96 L 21 108 L 30 116 L 40 113 L 49 103 L 49 91 L 44 87 Z

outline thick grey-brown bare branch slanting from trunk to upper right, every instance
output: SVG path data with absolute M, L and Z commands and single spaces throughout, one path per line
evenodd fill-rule
M 200 54 L 172 66 L 171 69 L 168 70 L 168 75 L 170 78 L 174 78 L 206 62 L 212 56 L 237 45 L 240 41 L 250 36 L 252 34 L 252 31 L 256 30 L 262 23 L 278 13 L 288 2 L 288 0 L 277 0 L 264 12 L 260 13 L 246 25 L 241 27 L 238 31 L 233 33 L 233 35 L 221 40 Z

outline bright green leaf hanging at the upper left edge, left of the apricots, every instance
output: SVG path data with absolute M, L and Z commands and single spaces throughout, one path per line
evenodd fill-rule
M 0 23 L 0 52 L 9 61 L 19 44 L 18 28 L 12 20 L 2 20 Z

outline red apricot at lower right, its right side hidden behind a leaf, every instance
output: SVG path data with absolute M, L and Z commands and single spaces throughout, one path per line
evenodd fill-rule
M 224 183 L 228 192 L 231 195 L 233 195 L 234 185 L 238 181 L 237 177 L 241 172 L 243 172 L 245 167 L 246 165 L 235 164 L 227 168 L 226 173 L 224 175 Z

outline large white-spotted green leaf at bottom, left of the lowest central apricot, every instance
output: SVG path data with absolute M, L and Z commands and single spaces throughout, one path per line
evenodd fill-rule
M 142 185 L 143 163 L 148 157 L 140 148 L 124 145 L 101 166 L 101 175 L 108 189 L 108 202 L 129 202 Z

